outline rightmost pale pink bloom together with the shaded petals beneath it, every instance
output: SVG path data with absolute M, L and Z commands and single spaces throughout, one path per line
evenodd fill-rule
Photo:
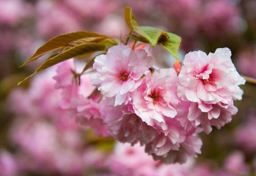
M 245 79 L 238 74 L 230 57 L 228 48 L 209 55 L 194 51 L 185 55 L 179 74 L 179 97 L 196 102 L 189 107 L 188 119 L 196 126 L 201 124 L 207 133 L 212 130 L 211 125 L 220 128 L 230 122 L 231 115 L 237 113 L 233 100 L 242 98 L 243 91 L 238 85 L 244 84 Z M 207 116 L 202 118 L 201 113 Z

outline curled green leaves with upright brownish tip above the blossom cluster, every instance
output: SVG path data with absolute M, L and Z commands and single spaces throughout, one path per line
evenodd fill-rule
M 131 32 L 137 35 L 128 35 L 136 41 L 146 42 L 152 46 L 161 45 L 164 49 L 169 51 L 176 59 L 179 59 L 177 52 L 180 48 L 181 38 L 173 33 L 163 31 L 163 29 L 140 26 L 135 19 L 133 11 L 130 7 L 125 7 L 125 22 L 130 28 Z

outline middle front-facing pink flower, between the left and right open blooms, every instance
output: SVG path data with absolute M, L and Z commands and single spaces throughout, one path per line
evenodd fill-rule
M 132 94 L 133 108 L 147 125 L 167 130 L 165 117 L 174 118 L 179 104 L 178 78 L 173 68 L 160 69 L 144 77 L 143 84 Z

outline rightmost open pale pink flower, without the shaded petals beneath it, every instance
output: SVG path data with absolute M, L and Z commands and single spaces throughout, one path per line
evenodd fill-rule
M 230 104 L 238 91 L 238 85 L 245 83 L 230 57 L 228 48 L 217 49 L 208 56 L 203 51 L 185 55 L 184 66 L 179 75 L 179 96 L 192 102 Z

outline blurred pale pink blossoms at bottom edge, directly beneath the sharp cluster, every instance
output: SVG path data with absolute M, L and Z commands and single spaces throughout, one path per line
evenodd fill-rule
M 137 176 L 185 176 L 193 166 L 193 160 L 183 165 L 166 165 L 161 161 L 154 161 L 151 156 L 144 153 L 144 147 L 139 144 L 131 146 L 121 143 L 115 145 L 114 152 L 106 163 L 112 173 Z

